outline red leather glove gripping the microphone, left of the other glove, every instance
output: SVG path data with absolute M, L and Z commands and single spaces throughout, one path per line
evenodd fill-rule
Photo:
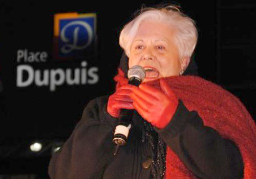
M 106 111 L 115 118 L 120 115 L 120 109 L 134 109 L 133 99 L 130 97 L 133 85 L 123 85 L 116 90 L 114 94 L 109 97 Z

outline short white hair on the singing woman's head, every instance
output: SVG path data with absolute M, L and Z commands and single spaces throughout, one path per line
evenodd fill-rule
M 197 28 L 193 19 L 180 12 L 174 6 L 147 8 L 132 21 L 124 25 L 119 36 L 119 44 L 128 57 L 131 45 L 142 21 L 156 21 L 169 25 L 170 29 L 175 32 L 174 42 L 178 47 L 180 59 L 191 57 L 197 44 Z

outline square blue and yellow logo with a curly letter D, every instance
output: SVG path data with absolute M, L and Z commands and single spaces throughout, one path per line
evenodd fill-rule
M 91 56 L 96 36 L 96 13 L 54 15 L 54 56 L 76 59 Z

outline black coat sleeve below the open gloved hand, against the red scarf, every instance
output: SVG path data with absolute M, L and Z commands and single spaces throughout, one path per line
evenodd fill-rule
M 243 178 L 243 160 L 236 144 L 204 126 L 198 113 L 189 112 L 181 100 L 169 124 L 156 131 L 198 178 Z

